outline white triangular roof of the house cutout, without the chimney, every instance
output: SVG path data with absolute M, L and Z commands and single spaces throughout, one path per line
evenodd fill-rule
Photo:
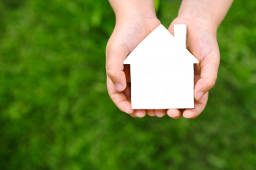
M 199 63 L 197 58 L 189 53 L 179 41 L 180 39 L 160 25 L 132 50 L 132 53 L 124 60 L 124 64 Z

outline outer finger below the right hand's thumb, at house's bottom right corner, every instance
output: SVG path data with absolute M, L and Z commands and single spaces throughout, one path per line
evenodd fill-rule
M 183 112 L 183 117 L 188 119 L 194 119 L 198 115 L 200 115 L 201 112 L 203 112 L 203 109 L 206 107 L 206 103 L 208 100 L 208 92 L 203 95 L 202 98 L 200 98 L 199 101 L 195 101 L 195 107 L 193 109 L 185 109 Z

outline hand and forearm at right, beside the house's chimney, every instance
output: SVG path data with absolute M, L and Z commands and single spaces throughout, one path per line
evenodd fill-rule
M 178 118 L 195 118 L 203 112 L 210 90 L 217 79 L 219 68 L 219 47 L 217 28 L 225 18 L 233 0 L 183 0 L 178 18 L 173 20 L 169 31 L 173 34 L 174 24 L 188 26 L 187 49 L 200 63 L 195 65 L 195 107 L 194 109 L 168 109 L 167 115 Z

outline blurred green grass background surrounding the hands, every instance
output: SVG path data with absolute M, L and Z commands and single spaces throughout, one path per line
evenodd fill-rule
M 164 26 L 181 1 L 160 1 Z M 256 1 L 219 27 L 221 65 L 195 120 L 135 119 L 105 86 L 107 0 L 0 1 L 0 169 L 255 169 Z

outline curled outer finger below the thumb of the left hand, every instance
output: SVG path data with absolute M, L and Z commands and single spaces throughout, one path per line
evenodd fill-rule
M 133 112 L 131 103 L 128 101 L 127 96 L 125 96 L 123 92 L 116 90 L 116 87 L 113 85 L 110 77 L 107 77 L 107 87 L 109 96 L 114 104 L 116 104 L 116 107 L 118 107 L 118 109 L 120 109 L 122 112 L 131 114 Z

